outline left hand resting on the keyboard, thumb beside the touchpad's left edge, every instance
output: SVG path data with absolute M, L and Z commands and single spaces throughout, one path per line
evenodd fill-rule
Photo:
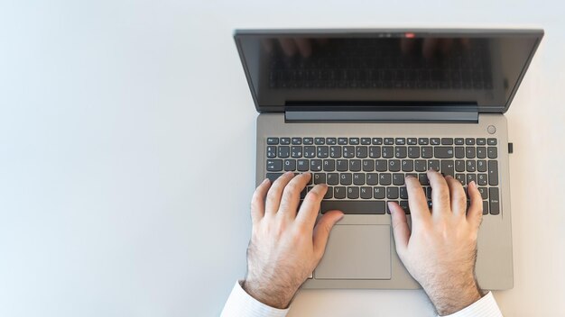
M 253 231 L 247 249 L 247 294 L 275 308 L 286 308 L 324 254 L 329 231 L 343 213 L 324 213 L 316 223 L 327 185 L 314 186 L 301 204 L 302 189 L 311 174 L 288 172 L 273 186 L 265 179 L 251 203 Z M 266 200 L 265 200 L 266 197 Z

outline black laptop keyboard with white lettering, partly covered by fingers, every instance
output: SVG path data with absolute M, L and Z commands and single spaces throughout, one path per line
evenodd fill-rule
M 404 177 L 418 177 L 431 206 L 428 169 L 451 175 L 463 186 L 475 181 L 483 214 L 499 214 L 498 153 L 494 138 L 266 138 L 266 177 L 310 172 L 310 184 L 327 184 L 321 213 L 384 214 L 394 201 L 410 213 Z

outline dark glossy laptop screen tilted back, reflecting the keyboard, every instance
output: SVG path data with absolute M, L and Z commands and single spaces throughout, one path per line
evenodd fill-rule
M 332 105 L 504 112 L 542 31 L 237 31 L 235 37 L 262 112 Z

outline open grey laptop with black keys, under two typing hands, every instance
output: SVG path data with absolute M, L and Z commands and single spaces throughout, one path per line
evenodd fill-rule
M 342 210 L 303 288 L 412 289 L 387 202 L 408 215 L 404 177 L 476 181 L 483 198 L 477 281 L 512 288 L 506 119 L 542 30 L 237 30 L 259 113 L 256 185 L 286 171 L 326 183 Z M 409 222 L 410 223 L 410 222 Z

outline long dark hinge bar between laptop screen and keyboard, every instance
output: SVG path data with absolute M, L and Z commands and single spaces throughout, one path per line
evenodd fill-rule
M 293 111 L 285 122 L 465 122 L 477 123 L 477 111 Z

